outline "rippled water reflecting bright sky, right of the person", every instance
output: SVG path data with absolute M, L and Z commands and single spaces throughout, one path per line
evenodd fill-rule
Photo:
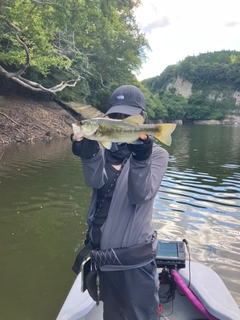
M 177 130 L 155 226 L 163 239 L 188 239 L 192 259 L 213 267 L 240 304 L 240 128 Z

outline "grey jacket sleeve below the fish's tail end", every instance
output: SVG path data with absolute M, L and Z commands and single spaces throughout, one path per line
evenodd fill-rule
M 128 176 L 128 196 L 132 204 L 143 204 L 154 198 L 167 170 L 168 152 L 153 145 L 152 155 L 144 161 L 131 157 Z

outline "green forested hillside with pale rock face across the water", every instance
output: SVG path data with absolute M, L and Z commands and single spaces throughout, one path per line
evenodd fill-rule
M 142 84 L 160 99 L 168 120 L 223 119 L 240 115 L 240 52 L 220 51 L 187 57 Z M 181 92 L 181 86 L 188 92 Z

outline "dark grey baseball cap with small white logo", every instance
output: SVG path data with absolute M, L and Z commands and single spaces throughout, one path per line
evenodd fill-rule
M 132 85 L 124 85 L 117 88 L 110 97 L 109 109 L 106 115 L 111 113 L 123 113 L 129 116 L 146 111 L 146 99 L 140 89 Z

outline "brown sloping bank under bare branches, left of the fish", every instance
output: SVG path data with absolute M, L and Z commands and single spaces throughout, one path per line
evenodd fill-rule
M 56 102 L 0 96 L 0 145 L 67 137 L 76 119 Z

